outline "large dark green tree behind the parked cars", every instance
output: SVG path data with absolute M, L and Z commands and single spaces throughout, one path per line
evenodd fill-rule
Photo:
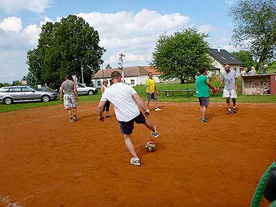
M 85 83 L 99 70 L 105 52 L 99 46 L 99 34 L 83 18 L 69 15 L 60 22 L 47 22 L 41 28 L 39 44 L 28 51 L 29 70 L 39 83 L 56 84 L 66 74 L 76 72 Z

